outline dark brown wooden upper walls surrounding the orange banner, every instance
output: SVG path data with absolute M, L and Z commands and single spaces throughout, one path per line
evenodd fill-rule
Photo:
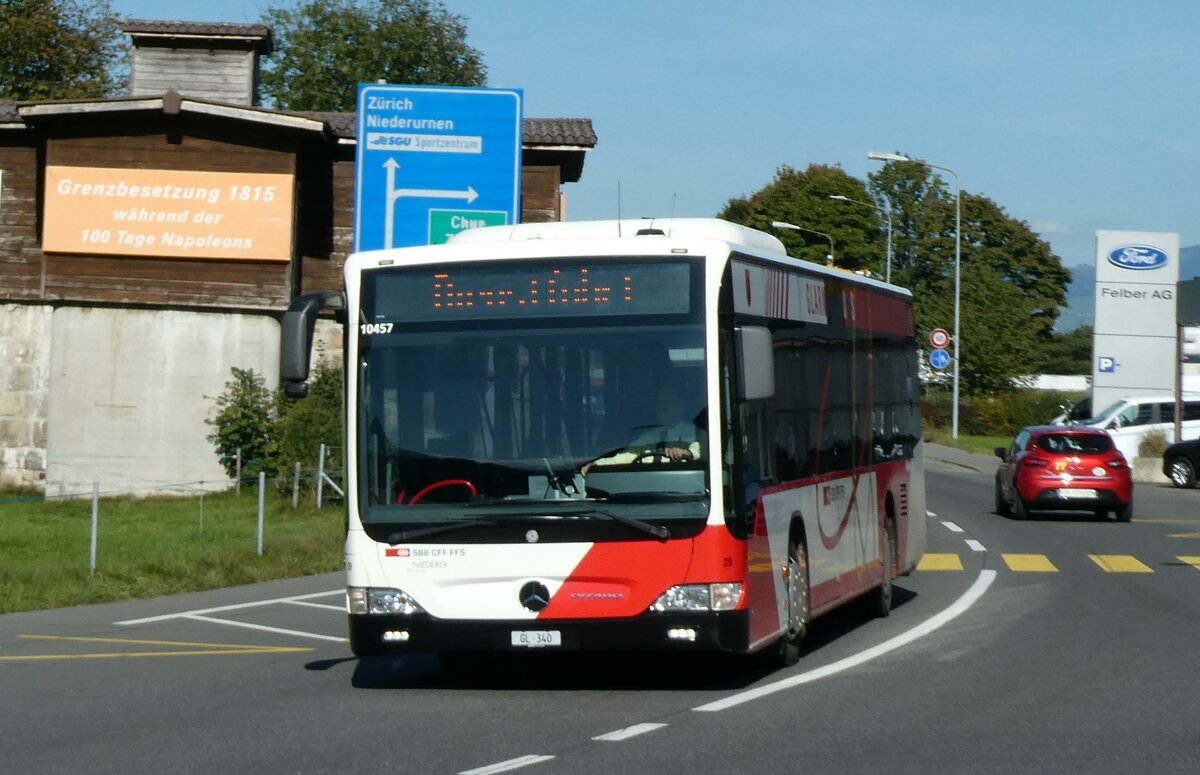
M 313 289 L 340 288 L 353 244 L 353 116 L 233 108 L 168 92 L 161 98 L 42 103 L 0 116 L 0 302 L 164 306 L 282 312 Z M 530 122 L 527 120 L 527 139 Z M 552 127 L 562 130 L 564 122 Z M 564 174 L 594 134 L 575 148 L 541 138 L 539 164 L 522 172 L 522 220 L 562 217 Z M 536 124 L 533 125 L 535 128 Z M 295 181 L 289 262 L 54 253 L 42 250 L 47 167 L 282 173 Z M 580 168 L 582 164 L 580 164 Z

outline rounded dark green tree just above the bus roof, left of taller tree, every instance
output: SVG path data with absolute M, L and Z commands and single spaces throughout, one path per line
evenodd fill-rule
M 869 269 L 882 276 L 886 245 L 878 211 L 835 202 L 829 199 L 832 194 L 871 200 L 863 182 L 840 167 L 810 164 L 799 172 L 785 164 L 775 170 L 769 185 L 749 198 L 731 199 L 718 217 L 775 234 L 798 258 L 824 264 L 832 248 L 836 266 Z M 776 229 L 772 221 L 805 230 Z M 833 245 L 814 232 L 828 234 Z

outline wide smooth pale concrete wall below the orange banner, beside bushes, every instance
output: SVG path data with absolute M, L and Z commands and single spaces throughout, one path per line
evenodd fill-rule
M 47 495 L 221 489 L 206 435 L 212 398 L 252 368 L 278 384 L 280 326 L 269 316 L 61 307 L 54 312 Z

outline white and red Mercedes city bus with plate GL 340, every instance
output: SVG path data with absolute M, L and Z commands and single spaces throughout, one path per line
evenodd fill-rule
M 799 659 L 925 548 L 912 295 L 712 218 L 484 227 L 361 252 L 347 323 L 356 655 Z M 665 390 L 667 389 L 667 390 Z M 648 440 L 664 397 L 682 425 Z M 686 437 L 686 438 L 682 438 Z

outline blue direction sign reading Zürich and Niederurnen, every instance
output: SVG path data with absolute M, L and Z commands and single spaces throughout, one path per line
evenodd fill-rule
M 520 89 L 359 84 L 354 250 L 516 223 L 523 102 Z

